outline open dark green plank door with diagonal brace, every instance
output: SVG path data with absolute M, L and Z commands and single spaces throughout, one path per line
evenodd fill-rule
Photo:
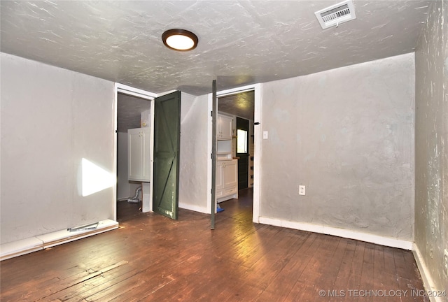
M 154 101 L 153 210 L 177 220 L 181 92 L 160 96 Z

